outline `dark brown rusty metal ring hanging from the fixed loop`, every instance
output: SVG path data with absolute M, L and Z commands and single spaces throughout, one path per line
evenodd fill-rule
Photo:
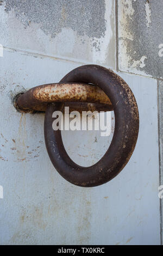
M 52 114 L 62 103 L 49 104 L 45 114 L 45 143 L 55 169 L 67 181 L 82 187 L 102 185 L 126 166 L 133 154 L 139 132 L 139 111 L 127 83 L 113 71 L 98 65 L 84 65 L 68 73 L 60 83 L 92 83 L 109 97 L 115 113 L 115 131 L 109 149 L 96 164 L 82 167 L 74 163 L 64 148 L 61 131 L 52 128 Z

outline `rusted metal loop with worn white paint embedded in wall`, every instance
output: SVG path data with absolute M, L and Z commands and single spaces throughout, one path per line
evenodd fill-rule
M 17 99 L 20 109 L 46 111 L 48 103 L 65 102 L 70 110 L 111 111 L 111 102 L 103 90 L 85 83 L 52 83 L 34 87 Z

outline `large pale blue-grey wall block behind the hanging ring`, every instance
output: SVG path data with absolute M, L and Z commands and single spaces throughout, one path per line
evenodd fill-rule
M 83 188 L 63 179 L 49 160 L 44 115 L 22 114 L 12 105 L 16 92 L 57 82 L 80 63 L 5 50 L 0 65 L 0 185 L 4 190 L 0 243 L 159 244 L 156 80 L 119 74 L 133 90 L 139 107 L 136 148 L 116 178 Z M 63 131 L 62 138 L 67 153 L 83 166 L 97 162 L 110 143 L 110 137 L 101 137 L 100 131 Z

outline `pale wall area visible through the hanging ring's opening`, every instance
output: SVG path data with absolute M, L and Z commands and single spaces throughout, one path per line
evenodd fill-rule
M 103 131 L 95 131 L 95 129 L 92 131 L 83 131 L 82 129 L 80 131 L 61 131 L 62 141 L 67 154 L 75 163 L 83 167 L 89 167 L 97 163 L 106 153 L 112 141 L 115 128 L 114 111 L 110 111 L 110 113 L 111 128 L 109 136 L 101 136 Z M 82 124 L 82 115 L 80 123 Z

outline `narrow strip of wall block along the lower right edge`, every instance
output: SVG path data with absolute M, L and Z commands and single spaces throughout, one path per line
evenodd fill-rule
M 159 82 L 159 144 L 160 144 L 160 185 L 163 185 L 163 81 Z M 163 235 L 163 199 L 161 199 L 161 225 Z

